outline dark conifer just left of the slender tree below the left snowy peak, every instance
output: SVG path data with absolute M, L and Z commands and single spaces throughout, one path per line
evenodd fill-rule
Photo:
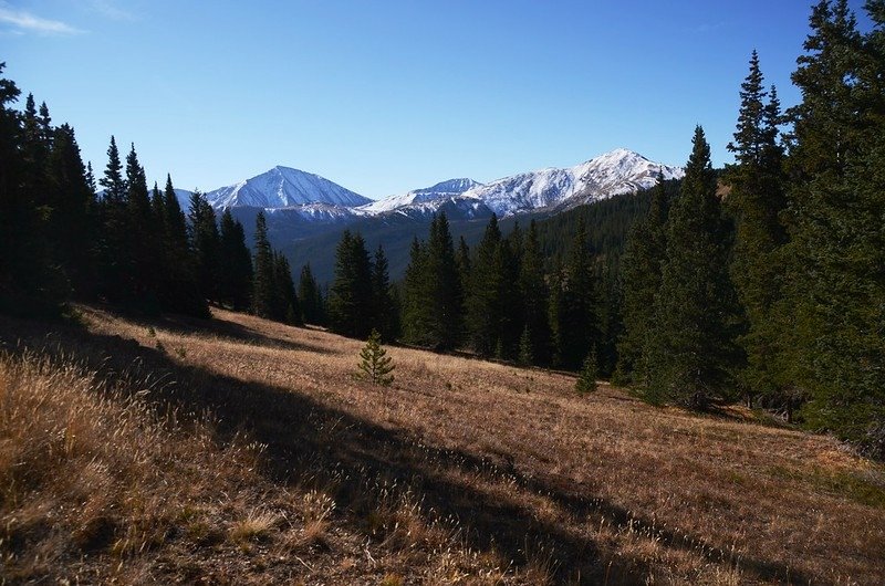
M 233 311 L 246 311 L 252 295 L 252 258 L 242 224 L 233 219 L 230 208 L 221 214 L 219 247 L 222 259 L 218 284 L 220 301 Z M 298 296 L 303 299 L 301 294 Z

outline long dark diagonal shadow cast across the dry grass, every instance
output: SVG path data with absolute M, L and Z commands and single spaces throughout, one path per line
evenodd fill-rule
M 267 473 L 274 481 L 301 484 L 314 479 L 321 485 L 336 484 L 336 501 L 352 513 L 345 515 L 346 522 L 361 525 L 357 531 L 366 532 L 366 524 L 360 520 L 385 504 L 384 491 L 373 491 L 371 486 L 395 485 L 402 494 L 410 492 L 423 498 L 425 511 L 457 519 L 465 529 L 467 545 L 473 550 L 493 547 L 517 566 L 537 563 L 538 552 L 546 552 L 558 583 L 646 580 L 653 569 L 646 562 L 605 558 L 592 538 L 540 519 L 528 499 L 519 502 L 483 488 L 510 482 L 519 489 L 520 496 L 545 496 L 577 520 L 604 519 L 610 526 L 633 527 L 665 547 L 690 550 L 711 563 L 731 565 L 751 579 L 809 579 L 780 563 L 736 559 L 731 552 L 699 537 L 663 530 L 649 519 L 608 501 L 575 493 L 555 479 L 528 478 L 462 451 L 428 447 L 407 431 L 386 429 L 285 388 L 183 366 L 158 349 L 119 336 L 0 317 L 0 343 L 8 352 L 37 350 L 73 358 L 108 379 L 126 373 L 135 380 L 176 380 L 177 384 L 149 394 L 157 409 L 178 408 L 191 414 L 209 410 L 217 418 L 221 440 L 248 430 L 267 444 Z

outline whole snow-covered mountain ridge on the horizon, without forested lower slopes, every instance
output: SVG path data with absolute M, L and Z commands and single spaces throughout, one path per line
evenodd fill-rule
M 659 177 L 678 179 L 679 167 L 654 163 L 618 148 L 569 168 L 545 168 L 489 184 L 449 179 L 433 187 L 373 201 L 319 175 L 277 166 L 239 184 L 206 193 L 217 209 L 257 208 L 278 219 L 341 223 L 366 217 L 429 217 L 445 209 L 462 218 L 499 218 L 563 210 L 652 187 Z M 285 211 L 283 211 L 285 210 Z

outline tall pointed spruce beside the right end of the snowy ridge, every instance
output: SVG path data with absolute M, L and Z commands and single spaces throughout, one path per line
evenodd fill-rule
M 705 408 L 731 388 L 736 364 L 728 227 L 716 195 L 710 147 L 698 126 L 683 189 L 673 203 L 667 258 L 645 358 L 648 397 Z

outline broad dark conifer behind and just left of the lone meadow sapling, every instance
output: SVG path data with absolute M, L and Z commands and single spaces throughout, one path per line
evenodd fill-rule
M 337 247 L 329 323 L 333 332 L 358 338 L 366 337 L 374 327 L 372 262 L 363 237 L 347 230 Z

